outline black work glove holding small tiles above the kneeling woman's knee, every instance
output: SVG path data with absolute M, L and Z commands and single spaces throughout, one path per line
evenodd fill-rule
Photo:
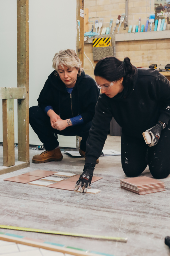
M 152 147 L 158 143 L 160 135 L 161 135 L 161 131 L 163 129 L 164 129 L 163 124 L 158 122 L 155 126 L 153 126 L 152 128 L 145 131 L 145 132 L 150 133 L 150 135 L 151 135 L 152 140 L 151 140 L 151 143 L 148 145 L 149 147 Z

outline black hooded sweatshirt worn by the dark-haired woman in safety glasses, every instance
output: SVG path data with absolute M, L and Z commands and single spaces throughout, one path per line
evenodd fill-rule
M 86 143 L 86 163 L 100 156 L 114 117 L 122 132 L 136 138 L 158 121 L 170 119 L 170 81 L 153 68 L 136 69 L 132 84 L 113 98 L 100 94 Z

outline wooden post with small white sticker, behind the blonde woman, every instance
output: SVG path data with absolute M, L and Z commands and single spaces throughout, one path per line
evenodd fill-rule
M 84 0 L 76 0 L 76 53 L 84 69 Z M 76 136 L 76 148 L 80 148 L 81 137 Z

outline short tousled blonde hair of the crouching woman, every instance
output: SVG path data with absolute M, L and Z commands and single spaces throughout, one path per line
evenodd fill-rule
M 53 68 L 57 71 L 57 75 L 58 75 L 58 66 L 61 65 L 62 68 L 63 65 L 65 65 L 68 68 L 78 68 L 79 72 L 77 74 L 77 76 L 81 76 L 82 73 L 82 62 L 80 61 L 80 59 L 78 58 L 75 50 L 71 50 L 71 49 L 67 49 L 67 50 L 61 50 L 59 52 L 57 52 L 54 55 L 53 58 Z

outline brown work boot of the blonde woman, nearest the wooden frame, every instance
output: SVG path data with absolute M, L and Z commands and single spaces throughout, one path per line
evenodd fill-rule
M 63 155 L 61 154 L 60 148 L 55 148 L 53 150 L 46 150 L 40 155 L 35 155 L 32 158 L 32 162 L 35 164 L 48 163 L 51 161 L 61 161 Z

